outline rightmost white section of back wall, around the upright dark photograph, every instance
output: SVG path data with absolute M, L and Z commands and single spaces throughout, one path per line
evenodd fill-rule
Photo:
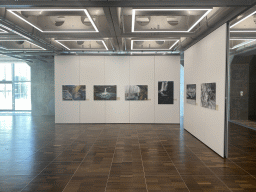
M 155 57 L 155 123 L 180 123 L 180 57 Z M 158 81 L 174 82 L 174 103 L 158 105 Z

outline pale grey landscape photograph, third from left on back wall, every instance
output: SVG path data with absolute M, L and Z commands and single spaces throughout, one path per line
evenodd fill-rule
M 148 100 L 147 85 L 125 86 L 125 100 Z

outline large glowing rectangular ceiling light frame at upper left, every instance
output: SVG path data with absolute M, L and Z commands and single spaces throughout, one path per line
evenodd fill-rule
M 8 9 L 10 13 L 18 17 L 19 19 L 25 21 L 27 24 L 31 25 L 32 27 L 36 28 L 42 33 L 94 33 L 94 32 L 99 32 L 98 28 L 96 27 L 93 19 L 91 18 L 89 12 L 86 9 Z M 90 20 L 93 28 L 95 31 L 43 31 L 40 29 L 38 26 L 32 24 L 29 22 L 26 18 L 22 17 L 21 15 L 15 13 L 15 11 L 84 11 L 88 19 Z

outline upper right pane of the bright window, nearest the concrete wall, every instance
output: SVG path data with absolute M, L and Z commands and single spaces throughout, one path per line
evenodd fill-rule
M 30 81 L 30 66 L 26 63 L 15 63 L 15 81 Z

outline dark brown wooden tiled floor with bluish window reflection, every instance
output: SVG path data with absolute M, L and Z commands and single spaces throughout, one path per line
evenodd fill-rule
M 178 125 L 0 116 L 0 191 L 255 191 L 255 134 L 239 130 L 222 159 Z

